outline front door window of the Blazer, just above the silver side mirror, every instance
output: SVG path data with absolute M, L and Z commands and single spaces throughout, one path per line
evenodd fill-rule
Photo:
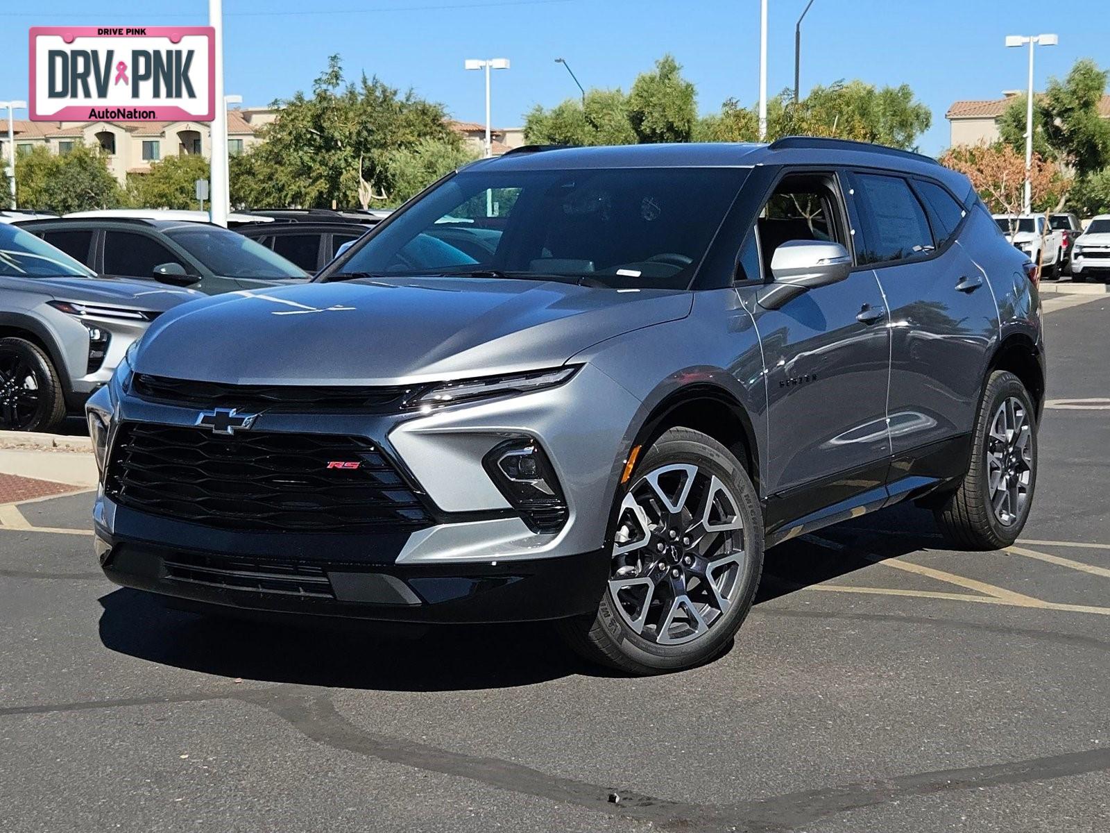
M 775 250 L 791 240 L 828 240 L 847 245 L 833 179 L 824 174 L 784 178 L 759 212 L 756 228 L 766 274 L 770 274 Z

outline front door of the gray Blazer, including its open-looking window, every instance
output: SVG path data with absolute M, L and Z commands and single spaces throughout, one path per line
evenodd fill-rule
M 764 273 L 788 240 L 835 240 L 851 251 L 838 178 L 789 174 L 757 221 Z M 763 343 L 767 373 L 768 523 L 830 506 L 885 500 L 890 445 L 887 310 L 875 272 L 855 269 L 777 310 L 760 288 L 741 290 Z M 860 495 L 864 495 L 862 498 Z

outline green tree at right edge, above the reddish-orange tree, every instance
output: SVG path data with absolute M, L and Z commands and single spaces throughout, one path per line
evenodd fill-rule
M 1110 121 L 1099 112 L 1108 74 L 1091 59 L 1080 59 L 1062 81 L 1049 79 L 1045 94 L 1033 100 L 1033 150 L 1066 162 L 1079 179 L 1110 165 Z M 1002 141 L 1025 152 L 1025 96 L 1013 97 L 999 119 L 999 132 Z

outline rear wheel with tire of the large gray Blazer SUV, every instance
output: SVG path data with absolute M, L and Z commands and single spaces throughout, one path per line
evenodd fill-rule
M 1010 441 L 997 439 L 1010 438 L 1011 428 L 1016 430 Z M 1021 534 L 1037 486 L 1036 411 L 1029 392 L 1012 373 L 996 371 L 987 380 L 972 443 L 962 482 L 935 510 L 937 524 L 956 549 L 1000 550 Z

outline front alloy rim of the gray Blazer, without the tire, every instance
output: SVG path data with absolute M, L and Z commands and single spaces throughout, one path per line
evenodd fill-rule
M 713 472 L 659 466 L 624 496 L 609 593 L 639 636 L 660 645 L 703 636 L 738 601 L 750 569 L 739 503 Z

